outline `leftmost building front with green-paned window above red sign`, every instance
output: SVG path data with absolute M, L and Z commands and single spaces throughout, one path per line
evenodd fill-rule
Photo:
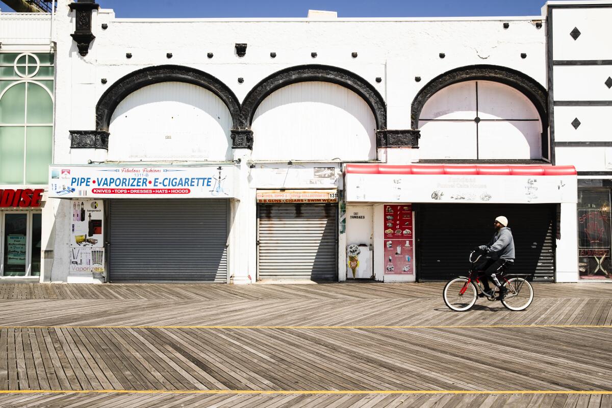
M 40 280 L 53 160 L 51 15 L 0 12 L 0 277 Z M 50 221 L 52 222 L 52 221 Z M 50 241 L 51 240 L 51 241 Z M 47 252 L 48 253 L 48 252 Z

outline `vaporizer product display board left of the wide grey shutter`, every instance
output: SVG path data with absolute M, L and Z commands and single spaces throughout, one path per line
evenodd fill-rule
M 70 272 L 104 272 L 104 203 L 72 200 Z

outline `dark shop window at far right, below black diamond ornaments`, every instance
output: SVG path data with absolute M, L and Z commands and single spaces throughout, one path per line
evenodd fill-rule
M 578 270 L 582 279 L 612 278 L 610 189 L 578 189 Z

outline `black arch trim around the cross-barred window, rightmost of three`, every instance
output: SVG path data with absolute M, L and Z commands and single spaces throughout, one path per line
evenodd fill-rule
M 542 121 L 542 133 L 548 129 L 548 93 L 531 76 L 498 65 L 469 65 L 459 67 L 436 76 L 417 93 L 412 100 L 410 119 L 413 129 L 419 128 L 419 116 L 429 98 L 449 85 L 464 81 L 494 81 L 513 87 L 529 98 L 537 109 Z M 543 146 L 542 146 L 543 147 Z

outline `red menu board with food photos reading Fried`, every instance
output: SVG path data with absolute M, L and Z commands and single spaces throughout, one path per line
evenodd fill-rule
M 383 225 L 385 275 L 413 275 L 412 204 L 385 204 Z

